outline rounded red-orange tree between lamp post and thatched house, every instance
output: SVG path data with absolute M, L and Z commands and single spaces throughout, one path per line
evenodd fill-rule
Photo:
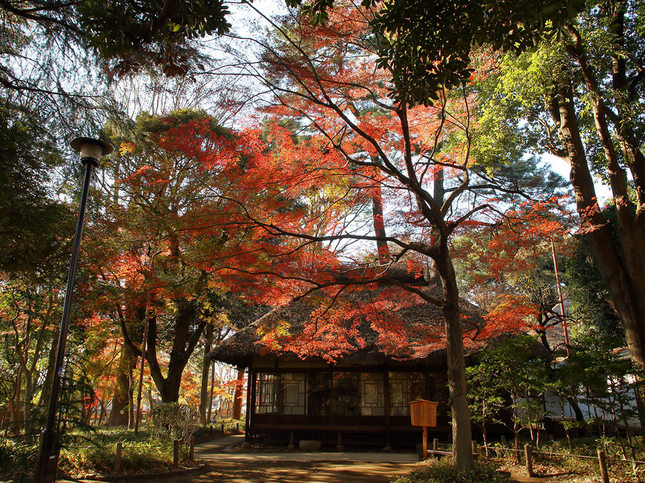
M 201 111 L 142 114 L 106 168 L 116 182 L 106 185 L 104 212 L 93 225 L 92 271 L 103 310 L 113 314 L 127 348 L 124 383 L 141 354 L 148 314 L 146 358 L 164 402 L 177 401 L 204 329 L 237 310 L 236 297 L 279 300 L 279 284 L 261 286 L 255 277 L 277 263 L 270 254 L 280 247 L 274 236 L 236 219 L 239 193 L 263 213 L 298 216 L 288 209 L 274 214 L 276 191 L 254 184 L 255 174 L 272 174 L 256 142 L 253 133 L 234 135 Z M 256 273 L 239 273 L 251 267 Z

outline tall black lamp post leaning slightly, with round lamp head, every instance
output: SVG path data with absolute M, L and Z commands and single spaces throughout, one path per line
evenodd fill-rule
M 63 316 L 60 321 L 60 333 L 58 335 L 58 345 L 56 346 L 56 365 L 54 367 L 54 377 L 52 378 L 51 392 L 49 395 L 47 425 L 40 434 L 40 455 L 38 457 L 38 467 L 36 468 L 36 481 L 39 483 L 50 483 L 56 479 L 56 468 L 58 466 L 58 448 L 56 446 L 55 430 L 56 409 L 58 406 L 61 376 L 63 374 L 63 359 L 65 357 L 65 344 L 67 342 L 67 331 L 69 327 L 69 313 L 72 308 L 74 279 L 76 278 L 78 255 L 81 250 L 81 238 L 83 237 L 87 194 L 92 178 L 92 170 L 99 165 L 101 157 L 112 152 L 111 145 L 91 138 L 76 138 L 70 143 L 70 146 L 81 156 L 81 163 L 85 165 L 85 182 L 83 183 L 81 204 L 78 210 L 76 236 L 74 237 L 74 246 L 72 247 L 72 261 L 69 266 L 69 275 L 67 276 Z

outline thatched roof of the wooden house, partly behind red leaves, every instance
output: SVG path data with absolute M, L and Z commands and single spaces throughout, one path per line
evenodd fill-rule
M 440 295 L 436 288 L 416 288 Z M 444 321 L 437 305 L 392 284 L 339 290 L 317 290 L 272 310 L 224 340 L 209 357 L 241 367 L 257 357 L 358 365 L 445 359 Z M 466 301 L 460 309 L 464 331 L 481 327 L 481 309 Z M 474 348 L 467 345 L 467 350 Z

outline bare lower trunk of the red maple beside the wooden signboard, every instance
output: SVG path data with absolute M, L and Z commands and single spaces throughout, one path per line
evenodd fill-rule
M 447 243 L 443 244 L 441 252 L 441 256 L 437 257 L 435 262 L 443 288 L 442 312 L 446 324 L 453 454 L 455 466 L 463 470 L 473 467 L 473 454 L 463 331 L 459 317 L 459 291 Z

